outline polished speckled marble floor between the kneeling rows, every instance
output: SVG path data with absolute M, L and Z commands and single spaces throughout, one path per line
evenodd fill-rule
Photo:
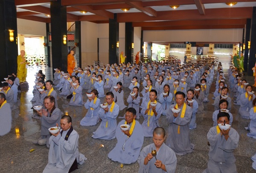
M 38 68 L 29 69 L 27 81 L 29 82 L 29 91 L 19 94 L 19 109 L 12 112 L 12 130 L 9 134 L 0 137 L 0 173 L 41 173 L 47 165 L 48 148 L 46 146 L 35 145 L 32 142 L 40 136 L 40 120 L 32 119 L 34 113 L 30 100 L 32 99 L 32 86 L 34 85 L 34 74 Z M 47 79 L 52 79 L 52 71 L 43 69 L 47 75 Z M 244 77 L 247 82 L 253 84 L 253 77 Z M 128 97 L 128 89 L 125 89 L 125 100 Z M 191 154 L 185 156 L 177 156 L 176 173 L 202 173 L 207 167 L 208 151 L 207 132 L 212 127 L 212 112 L 214 107 L 212 93 L 214 87 L 211 87 L 209 100 L 205 104 L 205 113 L 197 114 L 197 128 L 190 130 L 190 139 L 195 144 L 195 150 Z M 85 93 L 85 91 L 84 91 Z M 87 99 L 84 95 L 84 101 Z M 230 93 L 232 95 L 232 93 Z M 124 165 L 120 168 L 120 164 L 112 162 L 108 159 L 108 153 L 116 145 L 116 139 L 107 141 L 91 138 L 92 132 L 95 131 L 99 124 L 93 127 L 82 127 L 79 125 L 80 120 L 84 117 L 87 110 L 81 107 L 67 105 L 69 100 L 63 99 L 58 95 L 58 105 L 61 111 L 68 111 L 73 119 L 73 127 L 79 133 L 79 151 L 83 153 L 87 160 L 85 164 L 79 165 L 79 169 L 74 173 L 135 173 L 138 172 L 138 163 Z M 126 101 L 125 101 L 126 102 Z M 127 104 L 127 102 L 126 102 Z M 234 121 L 232 127 L 235 128 L 239 135 L 239 147 L 235 150 L 236 167 L 239 173 L 253 173 L 256 170 L 252 168 L 252 160 L 250 159 L 256 152 L 256 139 L 246 136 L 247 131 L 244 130 L 249 123 L 247 119 L 241 119 L 238 114 L 239 106 L 232 104 L 231 113 Z M 124 111 L 120 111 L 119 116 L 124 115 Z M 119 122 L 121 119 L 117 119 Z M 140 123 L 143 117 L 140 117 Z M 168 123 L 166 116 L 160 117 L 160 125 L 167 130 Z M 152 143 L 152 138 L 144 138 L 143 147 Z M 104 147 L 101 147 L 104 145 Z M 33 152 L 29 150 L 35 149 Z

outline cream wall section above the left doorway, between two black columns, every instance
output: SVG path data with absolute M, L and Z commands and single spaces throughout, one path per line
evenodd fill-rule
M 46 24 L 17 18 L 18 34 L 46 36 Z

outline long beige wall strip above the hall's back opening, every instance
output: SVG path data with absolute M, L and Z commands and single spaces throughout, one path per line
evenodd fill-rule
M 239 43 L 243 29 L 144 31 L 144 42 L 206 42 Z

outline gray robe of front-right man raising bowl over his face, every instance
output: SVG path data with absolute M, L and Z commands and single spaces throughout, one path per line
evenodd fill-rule
M 221 133 L 217 134 L 216 126 L 207 133 L 210 143 L 209 161 L 204 173 L 236 173 L 236 159 L 234 150 L 238 147 L 239 134 L 230 128 L 229 138 L 226 140 Z

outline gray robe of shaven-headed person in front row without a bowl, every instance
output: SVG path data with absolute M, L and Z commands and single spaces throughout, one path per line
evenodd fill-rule
M 151 149 L 156 150 L 156 147 L 153 144 L 150 144 L 143 148 L 140 152 L 140 156 L 138 159 L 138 163 L 140 164 L 139 173 L 166 173 L 164 170 L 157 168 L 154 163 L 156 159 L 153 157 L 148 164 L 144 164 L 144 159 L 151 153 Z M 157 151 L 157 160 L 160 160 L 166 167 L 167 173 L 175 173 L 176 166 L 177 166 L 177 158 L 174 151 L 169 148 L 165 143 Z

